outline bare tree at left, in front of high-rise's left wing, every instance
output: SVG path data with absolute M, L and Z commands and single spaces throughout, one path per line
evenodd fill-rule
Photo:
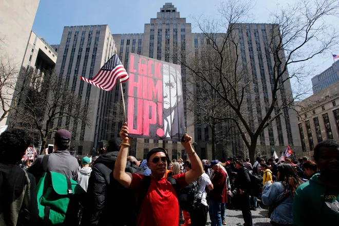
M 10 125 L 37 134 L 42 141 L 41 152 L 56 130 L 71 127 L 75 138 L 78 124 L 91 126 L 90 103 L 74 94 L 66 78 L 53 71 L 36 73 L 23 69 L 15 86 L 15 98 L 18 106 L 11 114 Z M 66 124 L 62 124 L 64 121 Z

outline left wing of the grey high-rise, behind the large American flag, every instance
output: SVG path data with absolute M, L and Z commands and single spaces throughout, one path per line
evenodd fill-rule
M 68 128 L 73 131 L 74 149 L 78 150 L 79 155 L 91 154 L 92 147 L 97 147 L 98 142 L 95 141 L 109 139 L 106 132 L 110 128 L 103 121 L 113 101 L 110 92 L 85 83 L 80 76 L 93 78 L 114 54 L 116 44 L 107 25 L 70 26 L 64 27 L 60 46 L 57 47 L 59 57 L 55 70 L 66 77 L 72 91 L 87 103 L 92 122 L 90 127 L 83 123 Z M 55 120 L 54 126 L 64 127 L 66 120 Z

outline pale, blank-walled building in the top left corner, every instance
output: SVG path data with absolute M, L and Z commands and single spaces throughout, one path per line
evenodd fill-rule
M 19 67 L 23 63 L 27 40 L 40 0 L 3 0 L 0 2 L 0 53 L 8 55 Z M 9 90 L 9 95 L 12 91 Z M 0 109 L 0 114 L 3 114 Z M 6 124 L 6 119 L 0 122 Z

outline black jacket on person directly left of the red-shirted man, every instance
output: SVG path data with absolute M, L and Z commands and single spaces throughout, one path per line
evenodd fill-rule
M 81 226 L 130 225 L 126 223 L 126 220 L 131 219 L 127 207 L 135 201 L 135 197 L 113 177 L 118 154 L 119 152 L 106 153 L 93 163 Z M 143 174 L 143 168 L 127 162 L 126 172 Z M 128 206 L 125 207 L 125 204 Z

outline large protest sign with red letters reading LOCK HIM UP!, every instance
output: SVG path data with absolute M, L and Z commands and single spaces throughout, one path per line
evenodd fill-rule
M 129 135 L 180 141 L 185 133 L 180 65 L 131 53 L 128 71 Z

